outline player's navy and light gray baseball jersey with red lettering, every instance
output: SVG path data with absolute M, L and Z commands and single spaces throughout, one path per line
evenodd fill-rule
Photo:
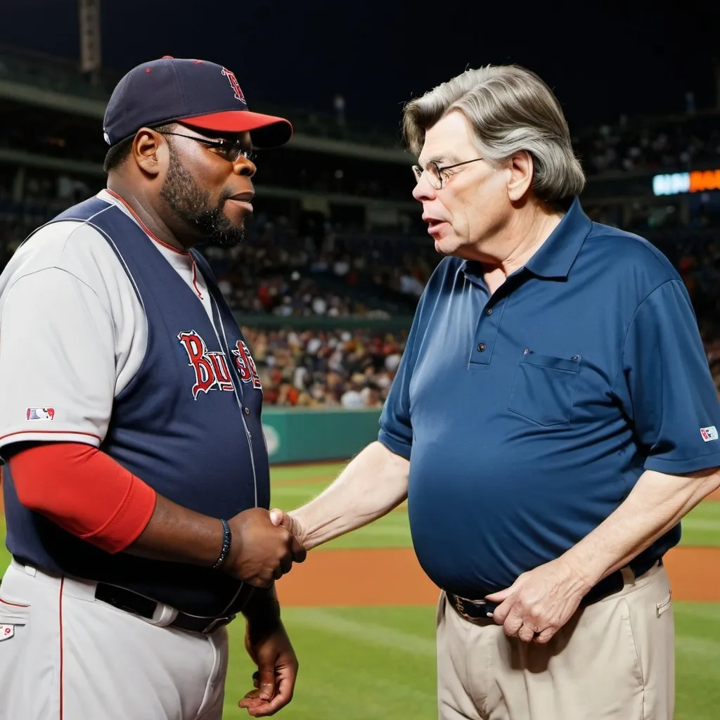
M 210 267 L 107 192 L 38 230 L 0 276 L 0 397 L 0 450 L 84 442 L 205 515 L 269 506 L 261 384 Z M 228 575 L 103 552 L 24 508 L 4 478 L 15 557 L 198 615 L 238 598 Z

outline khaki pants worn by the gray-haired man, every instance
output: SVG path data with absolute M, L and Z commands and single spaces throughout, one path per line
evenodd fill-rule
M 655 566 L 580 608 L 545 645 L 437 612 L 440 720 L 672 720 L 675 631 L 670 582 Z

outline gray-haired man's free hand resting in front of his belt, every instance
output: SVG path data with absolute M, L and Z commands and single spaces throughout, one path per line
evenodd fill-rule
M 567 623 L 590 584 L 563 557 L 523 572 L 505 590 L 487 595 L 500 603 L 492 618 L 505 634 L 523 642 L 546 643 Z

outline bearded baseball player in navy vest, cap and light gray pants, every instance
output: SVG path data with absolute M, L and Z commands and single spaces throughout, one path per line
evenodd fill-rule
M 107 189 L 0 276 L 3 720 L 218 720 L 238 613 L 241 706 L 292 698 L 273 581 L 305 551 L 270 522 L 261 382 L 192 249 L 240 242 L 251 150 L 291 135 L 226 68 L 143 63 L 107 106 Z

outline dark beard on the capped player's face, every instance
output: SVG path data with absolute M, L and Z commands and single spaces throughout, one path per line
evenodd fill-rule
M 230 198 L 230 192 L 223 190 L 217 205 L 213 206 L 210 193 L 198 186 L 172 148 L 168 174 L 160 197 L 172 208 L 178 220 L 204 235 L 209 241 L 231 248 L 239 245 L 245 238 L 245 230 L 233 225 L 222 212 L 225 202 Z

